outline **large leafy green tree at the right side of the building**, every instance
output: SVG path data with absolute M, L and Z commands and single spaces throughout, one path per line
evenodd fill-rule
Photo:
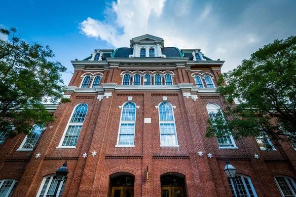
M 239 139 L 265 132 L 274 142 L 296 143 L 296 36 L 260 48 L 218 83 L 225 107 L 208 120 L 206 136 L 231 133 Z

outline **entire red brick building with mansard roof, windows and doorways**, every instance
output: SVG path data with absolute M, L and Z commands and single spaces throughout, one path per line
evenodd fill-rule
M 235 197 L 225 159 L 242 197 L 296 197 L 296 143 L 205 137 L 224 61 L 148 34 L 130 43 L 72 61 L 72 102 L 47 105 L 46 128 L 0 133 L 0 197 L 52 197 L 65 161 L 63 197 Z

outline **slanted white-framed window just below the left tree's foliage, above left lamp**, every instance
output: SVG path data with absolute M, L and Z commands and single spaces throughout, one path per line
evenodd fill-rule
M 32 151 L 42 131 L 43 127 L 36 125 L 33 130 L 28 135 L 26 135 L 20 148 L 17 150 Z

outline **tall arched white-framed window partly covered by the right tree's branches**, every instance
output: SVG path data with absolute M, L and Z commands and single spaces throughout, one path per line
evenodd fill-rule
M 215 122 L 218 113 L 222 113 L 221 108 L 213 103 L 207 104 L 207 110 L 212 122 Z M 225 121 L 226 124 L 226 121 Z M 220 131 L 217 131 L 220 132 Z M 231 148 L 236 147 L 234 139 L 232 135 L 222 135 L 221 137 L 217 137 L 219 148 Z

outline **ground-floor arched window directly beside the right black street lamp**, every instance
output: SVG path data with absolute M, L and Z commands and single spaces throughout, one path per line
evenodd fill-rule
M 249 176 L 242 175 L 242 174 L 236 174 L 234 180 L 228 178 L 228 183 L 232 193 L 232 197 L 237 197 L 233 190 L 234 188 L 233 181 L 235 182 L 235 185 L 238 188 L 238 193 L 240 197 L 257 197 L 251 178 Z

